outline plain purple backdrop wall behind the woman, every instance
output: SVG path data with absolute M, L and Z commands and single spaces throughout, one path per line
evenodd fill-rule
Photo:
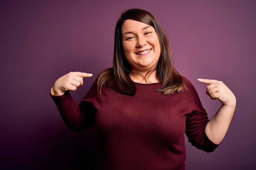
M 70 71 L 92 73 L 72 91 L 80 102 L 111 67 L 121 12 L 144 8 L 160 21 L 175 68 L 195 86 L 209 118 L 221 103 L 197 78 L 217 79 L 236 95 L 230 128 L 213 153 L 186 140 L 187 170 L 256 168 L 256 1 L 51 0 L 0 2 L 0 169 L 90 169 L 94 128 L 68 130 L 49 96 Z

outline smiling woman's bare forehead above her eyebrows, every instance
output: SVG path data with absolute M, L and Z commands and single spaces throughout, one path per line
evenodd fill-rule
M 149 26 L 148 24 L 141 23 L 139 21 L 135 20 L 125 20 L 125 22 L 122 25 L 122 32 L 126 31 L 140 31 L 145 26 Z M 153 28 L 153 27 L 152 27 Z

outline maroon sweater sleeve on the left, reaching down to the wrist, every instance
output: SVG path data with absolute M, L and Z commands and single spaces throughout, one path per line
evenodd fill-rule
M 96 108 L 93 99 L 97 94 L 96 83 L 95 80 L 80 104 L 73 99 L 70 91 L 66 91 L 62 96 L 54 96 L 50 93 L 64 123 L 70 130 L 83 131 L 94 125 Z

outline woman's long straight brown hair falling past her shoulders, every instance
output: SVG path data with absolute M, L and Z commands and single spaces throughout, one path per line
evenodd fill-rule
M 148 73 L 156 70 L 157 78 L 161 82 L 161 88 L 156 91 L 162 94 L 179 93 L 186 88 L 183 83 L 182 76 L 175 70 L 172 59 L 171 45 L 160 26 L 157 19 L 148 11 L 143 9 L 129 9 L 121 14 L 121 17 L 116 23 L 115 28 L 115 42 L 114 42 L 114 54 L 113 54 L 113 68 L 107 68 L 100 72 L 97 80 L 97 87 L 99 93 L 101 93 L 102 86 L 111 88 L 120 94 L 134 95 L 136 93 L 136 84 L 131 80 L 129 74 L 131 66 L 125 58 L 125 54 L 122 46 L 122 24 L 125 20 L 136 20 L 149 26 L 152 26 L 158 35 L 160 42 L 160 57 L 157 63 L 157 67 Z M 186 88 L 187 89 L 187 88 Z

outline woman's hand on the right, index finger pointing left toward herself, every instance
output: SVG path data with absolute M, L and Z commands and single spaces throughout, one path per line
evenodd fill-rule
M 198 79 L 198 81 L 208 84 L 206 94 L 211 99 L 218 99 L 222 105 L 236 106 L 236 96 L 223 82 L 214 79 Z

